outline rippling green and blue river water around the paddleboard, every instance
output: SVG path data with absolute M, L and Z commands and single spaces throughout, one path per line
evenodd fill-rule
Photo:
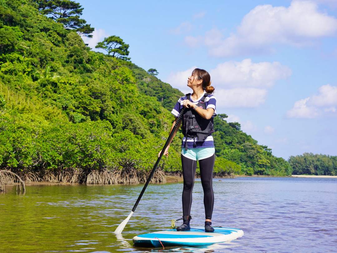
M 0 252 L 337 252 L 337 179 L 213 179 L 213 226 L 244 236 L 207 247 L 136 248 L 132 237 L 169 228 L 182 216 L 182 183 L 148 186 L 122 237 L 143 185 L 32 185 L 0 194 Z M 191 225 L 203 226 L 203 190 L 193 189 Z M 178 222 L 180 224 L 180 222 Z

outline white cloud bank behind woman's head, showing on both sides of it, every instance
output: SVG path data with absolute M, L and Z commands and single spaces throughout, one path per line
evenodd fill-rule
M 171 73 L 165 82 L 188 93 L 191 90 L 187 87 L 187 78 L 194 68 L 196 66 Z M 220 63 L 211 69 L 210 75 L 218 108 L 251 108 L 263 104 L 267 88 L 276 81 L 289 77 L 291 70 L 279 62 L 253 63 L 251 59 L 245 59 L 241 62 Z

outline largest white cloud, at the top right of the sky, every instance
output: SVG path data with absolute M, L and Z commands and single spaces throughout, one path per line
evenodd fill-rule
M 280 43 L 308 45 L 336 31 L 337 19 L 320 12 L 315 2 L 294 0 L 289 7 L 258 5 L 244 16 L 235 33 L 221 40 L 217 35 L 216 43 L 209 43 L 205 36 L 204 43 L 210 55 L 228 57 L 270 52 L 272 45 Z

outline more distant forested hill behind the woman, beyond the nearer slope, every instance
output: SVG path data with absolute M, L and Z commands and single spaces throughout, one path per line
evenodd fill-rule
M 132 63 L 126 63 L 126 66 L 134 73 L 140 91 L 155 96 L 168 111 L 171 111 L 179 97 L 184 95 L 170 84 L 148 75 L 144 69 Z M 291 175 L 287 161 L 273 156 L 267 146 L 258 145 L 256 140 L 240 130 L 238 122 L 227 123 L 226 117 L 226 114 L 219 114 L 214 120 L 216 174 Z

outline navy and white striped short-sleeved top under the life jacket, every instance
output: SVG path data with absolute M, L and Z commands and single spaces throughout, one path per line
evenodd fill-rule
M 206 92 L 204 92 L 205 94 Z M 198 104 L 198 102 L 203 98 L 203 96 L 200 97 L 199 100 L 197 101 L 194 101 L 192 99 L 192 97 L 190 97 L 190 101 L 193 103 L 193 104 Z M 183 109 L 183 100 L 186 100 L 187 97 L 186 96 L 182 96 L 180 97 L 180 99 L 178 100 L 177 104 L 174 106 L 174 108 L 172 109 L 171 113 L 178 117 L 181 110 Z M 216 114 L 216 110 L 215 110 L 215 105 L 216 105 L 216 98 L 214 95 L 210 94 L 206 97 L 205 99 L 205 106 L 206 106 L 206 110 L 208 108 L 213 108 L 214 109 L 214 113 Z M 215 115 L 214 115 L 215 116 Z M 194 140 L 195 139 L 195 140 Z M 185 141 L 186 141 L 186 138 L 184 136 L 183 138 L 183 141 L 181 143 L 181 146 L 182 147 L 185 147 Z M 213 136 L 210 135 L 206 138 L 205 141 L 198 141 L 198 138 L 195 137 L 195 138 L 191 138 L 191 137 L 188 137 L 187 138 L 187 148 L 193 148 L 193 142 L 195 141 L 195 144 L 196 144 L 196 148 L 203 148 L 203 147 L 214 147 L 214 142 L 213 142 Z

